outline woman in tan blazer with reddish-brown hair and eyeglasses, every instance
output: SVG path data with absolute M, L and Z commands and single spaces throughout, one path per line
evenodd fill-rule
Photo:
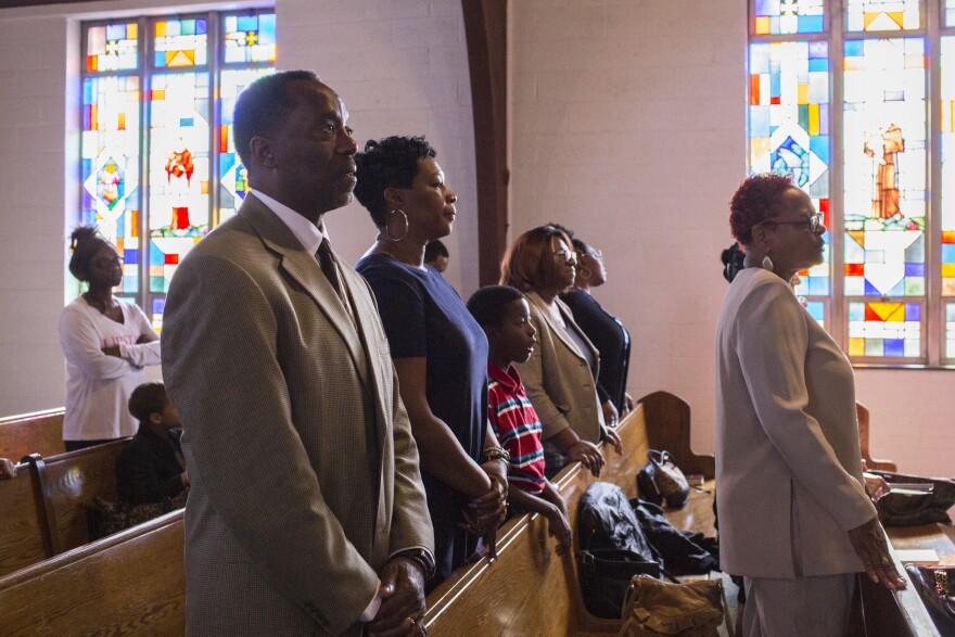
M 597 396 L 600 355 L 558 298 L 573 285 L 575 265 L 570 239 L 552 226 L 521 234 L 501 264 L 500 284 L 524 292 L 537 330 L 537 345 L 518 369 L 544 429 L 548 477 L 574 461 L 598 475 L 603 467 L 599 442 L 623 453 L 620 436 L 603 420 Z

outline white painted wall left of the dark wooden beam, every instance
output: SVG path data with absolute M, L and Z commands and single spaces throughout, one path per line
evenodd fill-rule
M 315 69 L 345 101 L 360 145 L 386 135 L 425 135 L 435 145 L 459 198 L 456 231 L 446 240 L 447 277 L 462 292 L 473 291 L 474 133 L 460 2 L 279 0 L 276 5 L 278 67 Z M 127 0 L 122 7 L 138 15 L 214 5 Z M 64 402 L 56 323 L 64 301 L 77 293 L 66 272 L 66 237 L 79 208 L 73 160 L 79 21 L 116 10 L 115 2 L 0 10 L 0 416 Z M 328 220 L 335 249 L 353 263 L 374 240 L 377 231 L 357 203 Z M 157 369 L 151 375 L 158 378 Z

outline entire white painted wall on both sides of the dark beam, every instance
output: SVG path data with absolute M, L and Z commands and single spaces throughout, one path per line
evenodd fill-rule
M 730 242 L 726 202 L 746 171 L 746 3 L 510 5 L 511 233 L 559 220 L 603 249 L 610 281 L 596 296 L 634 336 L 631 393 L 685 397 L 695 445 L 709 451 L 718 256 Z M 148 0 L 123 7 L 165 10 Z M 78 21 L 115 10 L 0 10 L 0 415 L 63 404 L 56 320 L 75 294 L 65 273 L 75 221 L 64 211 L 78 207 L 77 107 L 65 87 L 78 86 Z M 467 296 L 478 283 L 476 201 L 460 2 L 279 0 L 277 13 L 279 66 L 316 69 L 343 97 L 360 140 L 424 133 L 436 145 L 459 195 L 448 276 Z M 374 234 L 357 204 L 329 215 L 329 226 L 352 260 Z M 875 456 L 955 473 L 955 374 L 856 378 Z

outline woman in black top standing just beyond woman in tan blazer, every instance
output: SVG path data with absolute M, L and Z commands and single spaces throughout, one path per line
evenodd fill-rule
M 590 295 L 591 288 L 607 282 L 603 255 L 578 237 L 568 233 L 577 254 L 574 286 L 561 293 L 574 315 L 574 321 L 600 352 L 600 373 L 597 377 L 597 394 L 603 411 L 603 420 L 615 424 L 619 417 L 634 408 L 634 399 L 626 391 L 627 371 L 631 362 L 631 335 L 619 318 L 603 309 Z

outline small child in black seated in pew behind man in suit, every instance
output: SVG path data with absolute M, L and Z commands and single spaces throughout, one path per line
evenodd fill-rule
M 179 412 L 163 383 L 143 383 L 129 396 L 139 431 L 116 460 L 119 499 L 130 505 L 161 502 L 189 486 L 179 446 Z

